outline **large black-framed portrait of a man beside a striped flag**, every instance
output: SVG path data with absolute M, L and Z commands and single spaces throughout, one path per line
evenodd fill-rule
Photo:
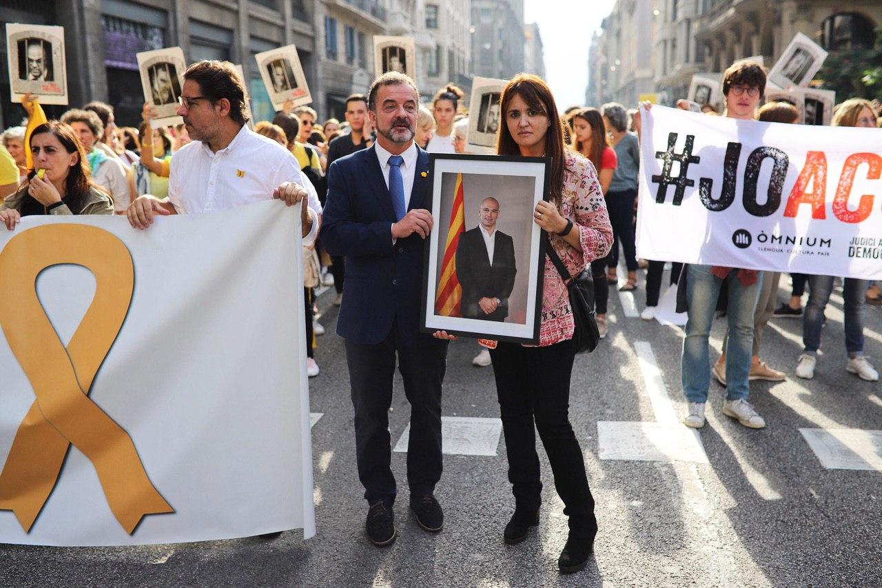
M 545 240 L 533 222 L 550 159 L 432 154 L 421 328 L 539 343 Z

